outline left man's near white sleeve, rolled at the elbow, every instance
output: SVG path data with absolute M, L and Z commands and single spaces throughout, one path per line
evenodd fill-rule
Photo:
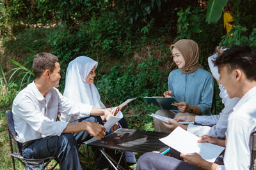
M 42 136 L 60 136 L 68 125 L 68 122 L 53 122 L 45 117 L 29 97 L 23 97 L 19 100 L 19 103 L 13 103 L 13 113 L 21 120 L 24 120 L 34 131 L 42 134 Z M 22 124 L 22 121 L 15 122 L 15 124 Z M 25 126 L 19 125 L 19 127 Z

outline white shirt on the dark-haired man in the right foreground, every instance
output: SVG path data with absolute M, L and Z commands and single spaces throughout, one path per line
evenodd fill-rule
M 250 168 L 250 134 L 256 127 L 256 87 L 250 89 L 233 110 L 228 117 L 225 166 L 217 169 Z

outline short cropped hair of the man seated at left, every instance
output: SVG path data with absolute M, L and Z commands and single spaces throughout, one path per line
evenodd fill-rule
M 39 78 L 46 69 L 52 72 L 55 68 L 55 62 L 58 62 L 58 57 L 51 53 L 36 54 L 33 60 L 35 78 Z

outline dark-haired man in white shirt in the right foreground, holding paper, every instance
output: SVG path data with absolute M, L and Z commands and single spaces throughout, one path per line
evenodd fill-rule
M 228 117 L 224 165 L 207 162 L 198 153 L 181 153 L 184 160 L 146 153 L 138 160 L 137 169 L 250 168 L 250 134 L 256 127 L 256 52 L 247 45 L 232 46 L 217 57 L 214 65 L 219 67 L 220 83 L 228 96 L 240 98 Z M 202 138 L 200 142 L 220 144 L 214 138 Z

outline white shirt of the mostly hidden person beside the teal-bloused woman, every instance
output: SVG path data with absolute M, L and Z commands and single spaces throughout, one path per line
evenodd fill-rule
M 196 116 L 194 125 L 189 124 L 187 131 L 196 134 L 197 136 L 209 135 L 215 138 L 225 138 L 227 130 L 227 120 L 230 113 L 232 113 L 234 106 L 236 106 L 239 98 L 227 99 L 225 101 L 225 108 L 221 111 L 220 115 L 212 116 Z

